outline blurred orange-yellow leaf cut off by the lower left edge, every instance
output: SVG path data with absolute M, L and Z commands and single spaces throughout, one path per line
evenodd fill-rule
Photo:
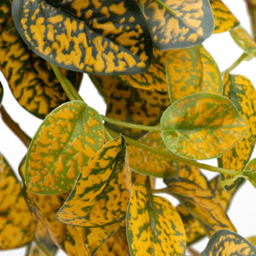
M 0 164 L 0 250 L 7 250 L 32 241 L 36 225 L 15 173 L 6 160 Z

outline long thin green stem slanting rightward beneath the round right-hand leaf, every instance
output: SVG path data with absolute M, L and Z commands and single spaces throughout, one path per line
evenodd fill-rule
M 115 131 L 112 131 L 108 128 L 106 128 L 106 129 L 108 130 L 108 132 L 111 135 L 113 135 L 113 137 L 118 137 L 119 136 L 119 133 L 117 133 Z M 152 147 L 148 146 L 147 144 L 137 142 L 136 140 L 133 140 L 130 137 L 125 137 L 125 141 L 127 143 L 131 144 L 132 146 L 137 147 L 137 148 L 143 148 L 143 150 L 149 151 L 153 154 L 158 154 L 158 155 L 163 156 L 165 158 L 169 158 L 171 160 L 181 162 L 181 163 L 184 163 L 184 164 L 189 165 L 189 166 L 196 166 L 198 168 L 201 168 L 201 169 L 204 169 L 204 170 L 207 170 L 207 171 L 229 174 L 229 175 L 234 175 L 234 176 L 241 174 L 241 172 L 236 172 L 235 170 L 226 170 L 226 169 L 215 167 L 215 166 L 209 166 L 209 165 L 206 165 L 206 164 L 201 164 L 199 162 L 196 162 L 195 160 L 185 159 L 183 157 L 177 156 L 176 154 L 172 154 L 171 152 L 166 152 L 166 151 L 160 150 L 158 148 L 152 148 Z

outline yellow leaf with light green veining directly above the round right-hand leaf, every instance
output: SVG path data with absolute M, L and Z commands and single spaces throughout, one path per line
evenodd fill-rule
M 218 65 L 202 45 L 168 53 L 166 79 L 171 102 L 198 92 L 222 95 Z

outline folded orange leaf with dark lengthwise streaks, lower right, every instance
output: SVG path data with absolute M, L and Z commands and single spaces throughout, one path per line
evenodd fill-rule
M 207 236 L 216 230 L 235 230 L 224 208 L 212 195 L 212 191 L 183 177 L 172 177 L 168 180 L 168 194 L 177 198 L 181 205 L 192 214 L 204 228 Z

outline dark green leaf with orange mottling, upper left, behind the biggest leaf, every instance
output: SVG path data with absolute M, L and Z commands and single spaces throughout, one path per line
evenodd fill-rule
M 0 3 L 0 70 L 20 106 L 44 119 L 54 108 L 67 102 L 49 63 L 32 53 L 20 38 L 11 17 L 11 2 Z M 82 74 L 62 69 L 79 89 Z

